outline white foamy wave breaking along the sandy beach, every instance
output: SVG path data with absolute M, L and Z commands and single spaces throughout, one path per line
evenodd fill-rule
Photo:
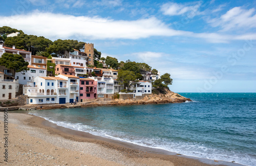
M 161 139 L 159 137 L 142 137 L 129 135 L 124 132 L 118 132 L 114 130 L 101 130 L 97 127 L 88 126 L 82 123 L 71 123 L 65 121 L 57 121 L 53 118 L 46 118 L 39 116 L 37 114 L 32 114 L 45 120 L 52 122 L 58 126 L 89 132 L 93 135 L 106 137 L 108 139 L 117 140 L 121 142 L 131 143 L 134 145 L 139 145 L 148 148 L 161 149 L 169 152 L 180 153 L 185 156 L 191 157 L 199 157 L 203 159 L 215 159 L 222 161 L 236 161 L 236 163 L 245 164 L 245 165 L 253 165 L 256 163 L 256 158 L 250 154 L 238 153 L 238 152 L 230 152 L 225 150 L 216 149 L 214 147 L 210 147 L 207 145 L 199 144 L 199 143 L 191 143 L 191 142 L 175 142 L 171 140 Z

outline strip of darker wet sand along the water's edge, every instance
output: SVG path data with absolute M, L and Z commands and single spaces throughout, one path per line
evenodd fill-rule
M 132 143 L 125 143 L 117 140 L 106 139 L 104 137 L 92 135 L 90 133 L 76 131 L 76 130 L 68 129 L 65 127 L 57 126 L 56 124 L 53 124 L 45 120 L 44 118 L 36 117 L 33 115 L 28 115 L 23 113 L 22 114 L 9 113 L 9 114 L 16 116 L 16 118 L 17 116 L 29 117 L 23 122 L 25 125 L 28 125 L 32 128 L 39 128 L 39 129 L 46 130 L 51 136 L 62 137 L 63 139 L 67 139 L 72 142 L 95 144 L 109 150 L 118 151 L 120 154 L 124 155 L 128 159 L 140 160 L 140 162 L 145 162 L 148 160 L 158 160 L 158 163 L 161 162 L 161 163 L 164 163 L 164 165 L 221 165 L 221 164 L 241 165 L 237 163 L 231 163 L 231 162 L 229 163 L 226 161 L 216 162 L 214 160 L 209 160 L 209 159 L 201 159 L 201 158 L 189 157 L 184 155 L 180 156 L 174 152 L 168 152 L 160 149 L 158 150 L 158 149 L 153 149 L 148 147 L 142 147 Z M 212 163 L 209 163 L 209 161 L 211 161 Z M 139 165 L 139 163 L 135 165 Z M 152 162 L 152 164 L 147 163 L 146 165 L 154 165 L 154 164 Z

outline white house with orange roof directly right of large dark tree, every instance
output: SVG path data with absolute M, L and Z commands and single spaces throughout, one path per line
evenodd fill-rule
M 26 85 L 31 79 L 41 76 L 46 77 L 47 70 L 45 68 L 28 65 L 28 71 L 22 71 L 15 73 L 15 78 L 19 80 L 19 84 Z

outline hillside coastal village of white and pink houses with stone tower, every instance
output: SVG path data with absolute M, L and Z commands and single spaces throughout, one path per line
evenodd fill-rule
M 0 66 L 1 99 L 23 95 L 27 97 L 27 104 L 76 103 L 113 98 L 114 94 L 140 99 L 152 94 L 152 81 L 160 76 L 159 72 L 145 75 L 143 80 L 130 82 L 129 93 L 121 92 L 124 86 L 117 80 L 118 70 L 108 68 L 103 61 L 99 61 L 103 68 L 88 67 L 94 65 L 93 43 L 85 43 L 84 51 L 74 49 L 52 59 L 33 56 L 31 51 L 16 49 L 15 45 L 10 48 L 0 44 L 0 58 L 6 52 L 21 55 L 29 63 L 29 70 L 14 75 L 12 69 Z

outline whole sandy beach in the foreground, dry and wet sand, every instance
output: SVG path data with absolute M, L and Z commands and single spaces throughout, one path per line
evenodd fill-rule
M 181 155 L 152 153 L 129 144 L 56 126 L 40 117 L 8 112 L 8 161 L 4 112 L 0 113 L 0 165 L 216 165 Z M 149 151 L 148 151 L 149 150 Z

